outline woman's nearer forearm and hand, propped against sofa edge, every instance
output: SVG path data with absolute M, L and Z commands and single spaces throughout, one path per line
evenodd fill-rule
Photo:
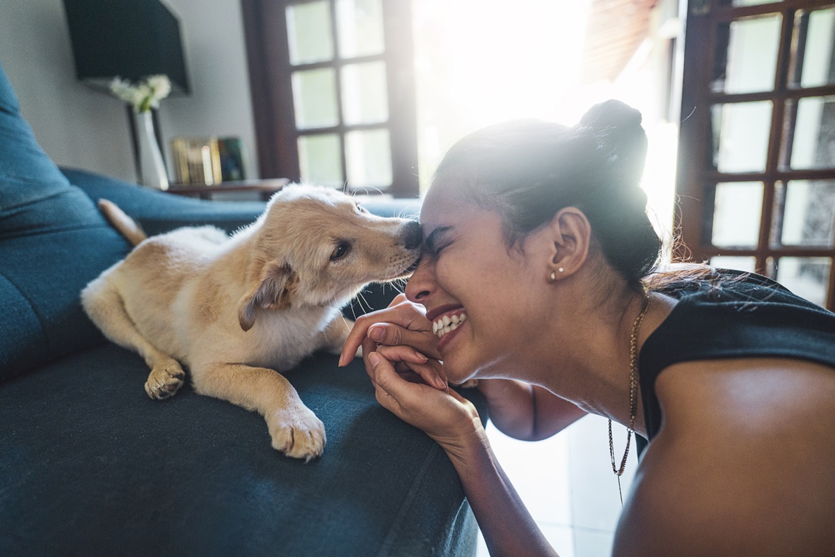
M 377 352 L 367 360 L 377 401 L 448 454 L 490 554 L 556 555 L 493 456 L 473 404 L 453 390 L 406 381 Z

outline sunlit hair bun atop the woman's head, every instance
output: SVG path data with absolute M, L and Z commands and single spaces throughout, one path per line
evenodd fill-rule
M 610 162 L 623 171 L 625 181 L 635 186 L 646 159 L 646 134 L 640 122 L 639 110 L 615 99 L 595 104 L 579 120 L 579 126 L 595 134 Z

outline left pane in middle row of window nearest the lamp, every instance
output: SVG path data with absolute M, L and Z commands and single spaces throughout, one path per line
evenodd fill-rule
M 333 68 L 294 72 L 292 82 L 296 128 L 326 128 L 339 124 L 337 78 Z

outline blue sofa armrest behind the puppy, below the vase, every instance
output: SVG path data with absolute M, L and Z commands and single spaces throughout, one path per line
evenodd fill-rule
M 62 168 L 71 184 L 96 201 L 113 201 L 139 222 L 149 235 L 161 234 L 180 226 L 215 225 L 231 232 L 250 224 L 264 212 L 261 201 L 207 201 L 151 190 L 141 185 L 94 174 L 86 170 Z

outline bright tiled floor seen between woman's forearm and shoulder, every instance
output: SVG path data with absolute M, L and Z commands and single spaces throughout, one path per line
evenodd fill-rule
M 626 430 L 614 424 L 615 458 L 620 462 Z M 620 516 L 618 483 L 609 456 L 608 421 L 587 416 L 564 432 L 536 443 L 517 441 L 488 426 L 499 463 L 519 496 L 561 557 L 611 554 Z M 635 439 L 620 482 L 624 494 L 635 475 Z M 487 557 L 479 537 L 477 557 Z

